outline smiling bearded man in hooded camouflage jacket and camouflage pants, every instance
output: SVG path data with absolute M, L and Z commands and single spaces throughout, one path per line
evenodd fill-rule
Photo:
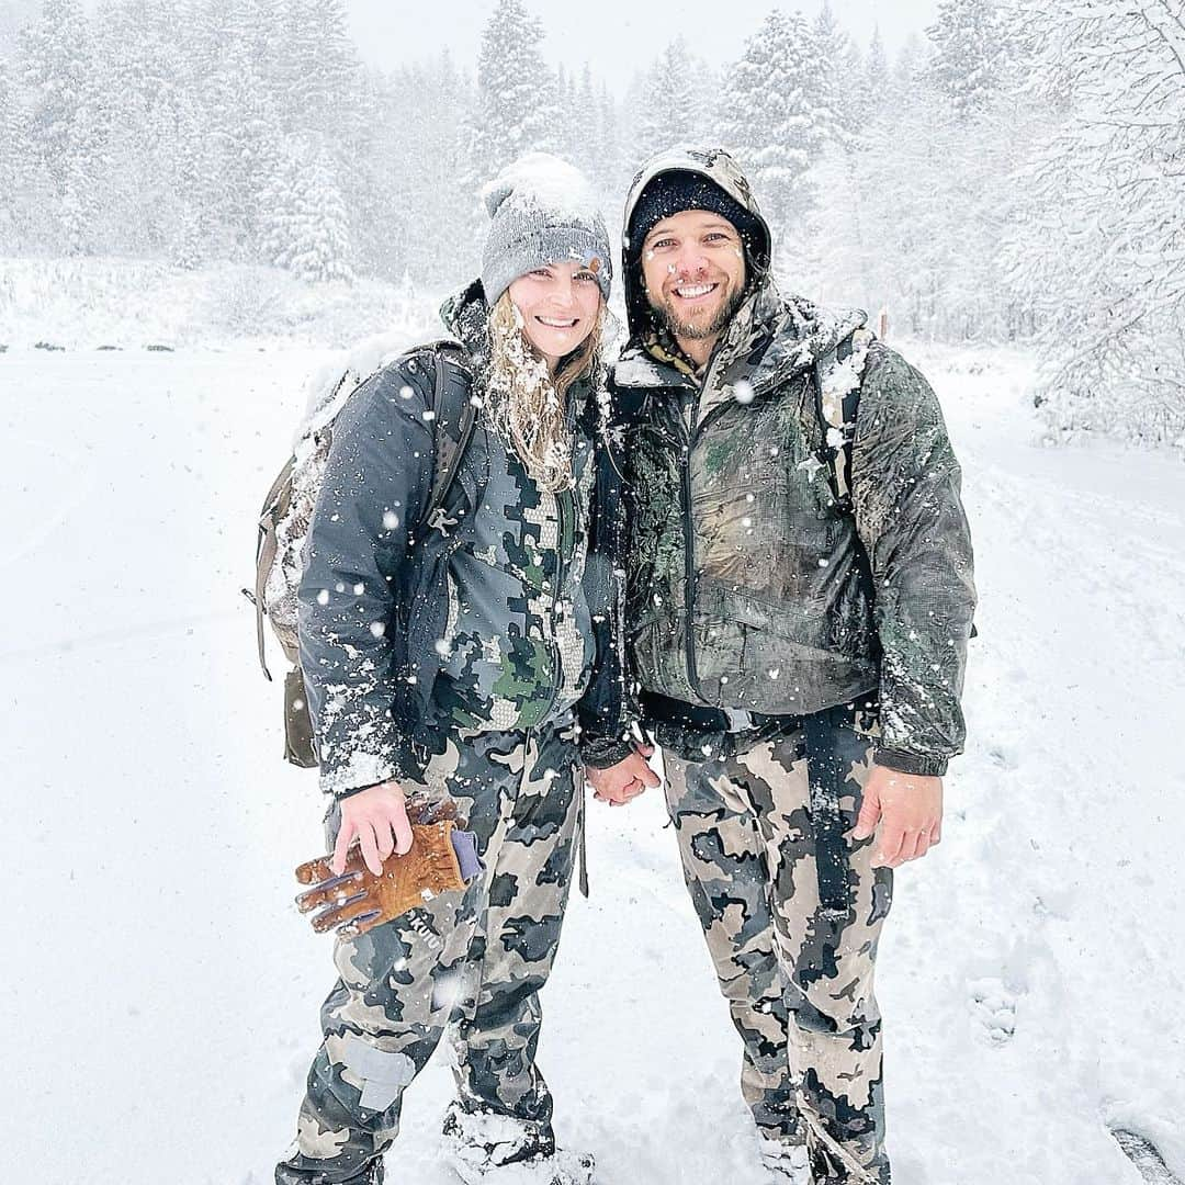
M 971 539 L 929 385 L 769 267 L 726 153 L 635 177 L 611 373 L 629 653 L 763 1159 L 886 1183 L 873 963 L 963 742 Z M 652 784 L 645 755 L 590 768 L 597 796 Z

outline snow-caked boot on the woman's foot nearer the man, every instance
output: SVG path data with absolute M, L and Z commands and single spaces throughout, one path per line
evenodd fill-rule
M 592 1154 L 558 1151 L 549 1123 L 454 1102 L 443 1132 L 446 1159 L 466 1185 L 592 1185 Z

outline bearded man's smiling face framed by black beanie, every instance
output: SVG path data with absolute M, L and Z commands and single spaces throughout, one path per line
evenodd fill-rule
M 715 338 L 744 294 L 741 235 L 720 214 L 681 210 L 646 236 L 642 280 L 651 307 L 677 338 Z

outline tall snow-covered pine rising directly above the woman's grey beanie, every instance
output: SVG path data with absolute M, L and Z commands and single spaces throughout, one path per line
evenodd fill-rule
M 543 26 L 521 0 L 498 0 L 481 36 L 476 105 L 466 122 L 474 194 L 526 152 L 562 150 L 556 75 L 543 58 Z

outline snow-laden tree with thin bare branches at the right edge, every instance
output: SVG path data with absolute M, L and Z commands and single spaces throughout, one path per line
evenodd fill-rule
M 1061 116 L 1008 252 L 1037 307 L 1042 414 L 1058 436 L 1185 450 L 1185 6 L 1023 13 L 1036 97 Z

